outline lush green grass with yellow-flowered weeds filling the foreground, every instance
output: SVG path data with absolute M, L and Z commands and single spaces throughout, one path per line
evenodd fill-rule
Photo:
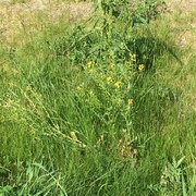
M 196 56 L 175 16 L 127 29 L 128 52 L 122 23 L 45 19 L 1 39 L 0 195 L 194 195 Z

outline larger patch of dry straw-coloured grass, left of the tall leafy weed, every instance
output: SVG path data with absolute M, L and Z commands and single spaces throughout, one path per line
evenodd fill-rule
M 65 3 L 61 0 L 32 0 L 26 3 L 0 1 L 0 38 L 9 44 L 22 41 L 26 34 L 40 30 L 60 19 L 73 23 L 90 15 L 91 3 Z M 3 42 L 4 42 L 3 41 Z

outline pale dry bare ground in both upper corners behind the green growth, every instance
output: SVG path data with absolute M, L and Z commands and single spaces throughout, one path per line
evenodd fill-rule
M 65 14 L 66 19 L 72 23 L 78 19 L 89 16 L 91 13 L 91 3 L 89 2 L 68 3 L 61 0 L 14 2 L 14 0 L 0 0 L 0 38 L 12 40 L 15 38 L 14 33 L 17 34 L 20 28 L 25 26 L 27 29 L 32 29 L 37 22 L 37 13 L 45 15 L 49 23 L 54 23 L 58 17 Z M 192 19 L 189 14 L 196 11 L 196 1 L 170 0 L 168 4 L 170 13 L 176 15 L 176 21 L 172 21 L 171 25 L 176 25 L 176 28 L 179 28 L 177 44 L 180 46 L 191 45 L 196 48 L 196 20 L 195 17 Z M 185 17 L 191 17 L 187 23 L 183 23 Z M 183 19 L 182 23 L 177 21 L 179 19 Z

